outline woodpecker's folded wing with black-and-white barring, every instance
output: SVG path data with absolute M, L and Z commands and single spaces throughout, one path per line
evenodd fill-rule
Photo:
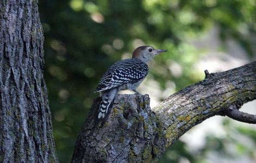
M 148 74 L 148 65 L 139 59 L 115 62 L 100 79 L 95 92 L 100 92 L 126 83 L 136 83 Z

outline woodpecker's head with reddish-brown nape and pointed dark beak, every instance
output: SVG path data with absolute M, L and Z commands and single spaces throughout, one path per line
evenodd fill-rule
M 138 58 L 147 64 L 148 61 L 153 59 L 157 54 L 163 52 L 167 52 L 167 50 L 154 49 L 151 46 L 140 46 L 137 47 L 135 51 L 132 53 L 132 58 Z

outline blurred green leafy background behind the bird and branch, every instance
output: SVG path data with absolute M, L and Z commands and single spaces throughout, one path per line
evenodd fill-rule
M 149 75 L 139 87 L 154 106 L 202 80 L 203 68 L 223 71 L 255 60 L 255 9 L 254 0 L 40 1 L 44 73 L 60 162 L 70 162 L 90 105 L 99 96 L 94 89 L 113 62 L 130 58 L 141 45 L 168 49 L 150 62 Z M 224 124 L 225 137 L 207 135 L 197 152 L 186 141 L 175 142 L 160 162 L 214 162 L 216 153 L 223 158 L 241 153 L 255 161 L 255 129 L 231 124 Z M 254 148 L 230 137 L 232 132 L 249 137 Z M 237 149 L 231 154 L 226 150 L 230 145 Z

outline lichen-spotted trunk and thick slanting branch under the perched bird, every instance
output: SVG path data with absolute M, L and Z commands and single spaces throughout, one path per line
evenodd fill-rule
M 204 80 L 169 96 L 152 110 L 147 95 L 118 95 L 102 128 L 94 124 L 97 98 L 78 136 L 72 162 L 156 162 L 188 129 L 255 98 L 256 62 L 206 73 Z

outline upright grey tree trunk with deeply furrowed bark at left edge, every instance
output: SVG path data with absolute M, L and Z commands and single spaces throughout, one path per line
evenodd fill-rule
M 38 1 L 0 1 L 0 162 L 58 162 Z

